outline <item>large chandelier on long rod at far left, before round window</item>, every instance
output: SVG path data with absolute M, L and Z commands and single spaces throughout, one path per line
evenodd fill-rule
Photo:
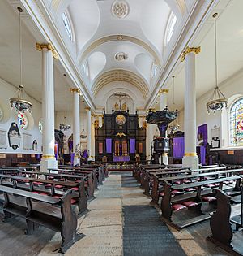
M 21 112 L 25 112 L 25 111 L 29 111 L 30 113 L 32 113 L 32 103 L 28 102 L 27 100 L 23 99 L 23 94 L 24 89 L 23 89 L 23 85 L 22 85 L 22 30 L 21 30 L 21 13 L 23 12 L 23 9 L 18 7 L 17 8 L 19 11 L 19 61 L 20 61 L 20 85 L 19 85 L 19 89 L 17 91 L 17 97 L 16 98 L 10 98 L 10 104 L 11 104 L 11 109 L 15 108 L 16 111 L 21 111 Z M 25 93 L 26 94 L 26 93 Z

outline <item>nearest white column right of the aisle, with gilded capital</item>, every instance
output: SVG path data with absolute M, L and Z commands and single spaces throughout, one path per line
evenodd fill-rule
M 187 47 L 181 55 L 185 59 L 185 154 L 182 159 L 183 167 L 198 169 L 197 126 L 196 126 L 196 83 L 195 83 L 195 54 L 200 52 L 200 47 Z

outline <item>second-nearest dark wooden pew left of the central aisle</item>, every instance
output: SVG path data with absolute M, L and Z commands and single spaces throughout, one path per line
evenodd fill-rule
M 26 191 L 40 193 L 51 197 L 61 197 L 66 190 L 72 189 L 72 204 L 78 206 L 78 215 L 87 213 L 87 194 L 85 192 L 84 180 L 77 182 L 63 182 L 54 180 L 33 179 L 22 176 L 0 175 L 0 184 L 13 187 L 15 189 L 23 189 Z

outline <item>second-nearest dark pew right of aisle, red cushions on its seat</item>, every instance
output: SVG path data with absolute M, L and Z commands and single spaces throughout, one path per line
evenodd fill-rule
M 216 198 L 213 197 L 212 189 L 202 189 L 202 187 L 208 184 L 217 184 L 220 189 L 223 189 L 224 182 L 230 180 L 237 180 L 234 190 L 239 193 L 238 186 L 241 178 L 237 175 L 178 185 L 169 184 L 167 180 L 164 180 L 164 197 L 161 201 L 162 218 L 177 229 L 209 219 L 209 213 L 215 210 Z M 190 188 L 194 188 L 196 191 L 172 198 L 173 189 L 185 191 Z

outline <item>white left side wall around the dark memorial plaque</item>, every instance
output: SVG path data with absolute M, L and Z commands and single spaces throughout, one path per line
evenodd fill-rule
M 41 153 L 41 145 L 42 145 L 42 135 L 39 131 L 39 120 L 41 117 L 41 104 L 40 102 L 37 102 L 33 98 L 28 97 L 28 95 L 25 95 L 26 99 L 30 102 L 32 102 L 32 115 L 28 115 L 28 128 L 26 130 L 23 130 L 20 128 L 18 119 L 17 119 L 17 112 L 15 110 L 11 110 L 10 98 L 16 97 L 16 87 L 13 85 L 10 85 L 5 80 L 2 80 L 0 78 L 0 106 L 3 111 L 3 119 L 0 121 L 0 130 L 6 131 L 6 149 L 0 148 L 0 153 L 11 153 L 11 154 L 40 154 Z M 15 122 L 18 124 L 19 132 L 21 135 L 20 139 L 20 147 L 16 150 L 12 149 L 9 145 L 7 132 L 9 131 L 9 128 L 11 127 L 11 123 Z M 28 133 L 32 135 L 32 141 L 37 141 L 37 151 L 36 150 L 23 150 L 23 133 Z

